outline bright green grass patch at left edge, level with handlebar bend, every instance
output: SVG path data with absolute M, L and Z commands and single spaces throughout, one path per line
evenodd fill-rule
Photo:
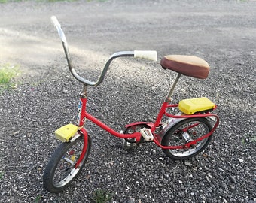
M 13 79 L 17 77 L 19 72 L 18 65 L 0 64 L 0 92 L 17 86 Z

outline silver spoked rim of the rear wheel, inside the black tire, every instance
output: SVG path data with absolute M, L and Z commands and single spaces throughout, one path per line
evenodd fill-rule
M 169 137 L 168 145 L 172 146 L 180 146 L 187 144 L 187 135 L 191 140 L 196 140 L 197 138 L 206 135 L 209 132 L 209 126 L 206 123 L 201 121 L 190 121 L 184 123 L 183 125 L 179 126 L 178 129 L 175 129 L 175 132 L 172 132 L 172 135 Z M 184 136 L 186 134 L 186 136 Z M 172 153 L 173 156 L 184 157 L 190 156 L 192 154 L 200 152 L 200 150 L 205 146 L 208 138 L 203 139 L 202 141 L 198 141 L 196 145 L 190 147 L 188 149 L 181 149 L 181 150 L 169 150 L 169 153 Z

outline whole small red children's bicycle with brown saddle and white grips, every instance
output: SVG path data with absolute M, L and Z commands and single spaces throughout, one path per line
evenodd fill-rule
M 66 37 L 56 17 L 51 17 L 65 51 L 69 70 L 79 82 L 83 83 L 78 105 L 76 124 L 67 124 L 55 131 L 56 138 L 62 141 L 51 156 L 44 171 L 44 187 L 49 192 L 61 192 L 66 189 L 81 172 L 90 153 L 91 138 L 84 128 L 90 120 L 111 135 L 123 139 L 123 149 L 130 150 L 142 142 L 154 142 L 163 149 L 166 156 L 172 159 L 189 159 L 202 152 L 212 140 L 212 134 L 218 126 L 219 118 L 211 112 L 217 107 L 209 98 L 189 98 L 171 104 L 172 92 L 181 74 L 205 79 L 209 74 L 208 63 L 197 56 L 169 55 L 164 56 L 160 65 L 164 69 L 177 72 L 174 83 L 169 89 L 154 123 L 137 122 L 125 126 L 123 132 L 116 132 L 100 120 L 87 113 L 87 87 L 98 86 L 104 80 L 111 62 L 119 57 L 135 57 L 157 61 L 156 51 L 122 51 L 114 53 L 94 82 L 81 77 L 73 68 L 69 55 Z M 171 114 L 173 108 L 178 114 Z

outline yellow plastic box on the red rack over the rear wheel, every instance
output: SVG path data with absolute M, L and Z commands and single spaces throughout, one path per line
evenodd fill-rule
M 178 103 L 179 110 L 184 114 L 212 111 L 215 106 L 215 103 L 206 97 L 183 99 Z

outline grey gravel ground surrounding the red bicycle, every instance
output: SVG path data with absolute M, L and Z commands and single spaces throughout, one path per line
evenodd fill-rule
M 255 8 L 254 1 L 174 0 L 0 5 L 0 60 L 22 69 L 17 89 L 0 95 L 1 201 L 91 202 L 104 189 L 111 202 L 255 203 Z M 221 123 L 207 156 L 173 161 L 154 144 L 125 152 L 119 139 L 87 123 L 93 147 L 86 167 L 66 191 L 47 192 L 42 174 L 59 144 L 53 132 L 75 122 L 81 89 L 67 70 L 52 14 L 79 71 L 91 80 L 119 50 L 206 59 L 209 78 L 181 77 L 173 99 L 207 96 L 218 104 Z M 117 59 L 90 89 L 88 111 L 117 131 L 154 120 L 174 77 L 159 60 Z

